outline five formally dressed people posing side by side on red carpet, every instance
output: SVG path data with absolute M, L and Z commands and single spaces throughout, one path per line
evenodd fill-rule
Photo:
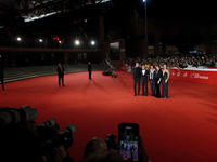
M 166 64 L 163 65 L 163 69 L 159 66 L 151 65 L 150 69 L 145 68 L 145 65 L 136 63 L 135 68 L 132 69 L 133 76 L 133 89 L 135 96 L 140 95 L 140 81 L 142 81 L 142 96 L 148 96 L 148 82 L 150 81 L 151 96 L 157 98 L 163 97 L 164 99 L 168 98 L 168 80 L 169 80 L 169 70 L 167 69 Z M 162 95 L 161 95 L 161 84 L 162 84 Z M 138 91 L 137 91 L 138 85 Z

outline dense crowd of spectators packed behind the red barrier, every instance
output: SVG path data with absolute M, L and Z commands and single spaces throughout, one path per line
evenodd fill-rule
M 135 66 L 135 63 L 140 63 L 145 65 L 148 68 L 151 65 L 159 65 L 163 67 L 164 64 L 168 68 L 208 68 L 217 67 L 217 57 L 215 55 L 190 55 L 190 56 L 168 56 L 168 57 L 149 57 L 149 58 L 127 58 L 124 64 L 127 64 L 131 67 Z

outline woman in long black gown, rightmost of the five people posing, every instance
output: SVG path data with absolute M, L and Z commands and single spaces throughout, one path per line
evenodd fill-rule
M 169 70 L 167 69 L 166 64 L 164 64 L 162 76 L 162 96 L 164 97 L 164 99 L 168 98 L 168 80 Z

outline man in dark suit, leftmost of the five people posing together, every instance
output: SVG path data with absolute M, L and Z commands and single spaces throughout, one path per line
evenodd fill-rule
M 138 84 L 138 95 L 140 95 L 140 80 L 142 69 L 139 67 L 139 63 L 136 63 L 136 67 L 132 70 L 133 76 L 133 87 L 135 87 L 135 96 L 137 95 L 137 84 Z

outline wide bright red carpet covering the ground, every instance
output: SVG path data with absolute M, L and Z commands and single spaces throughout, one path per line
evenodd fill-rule
M 113 81 L 101 71 L 39 77 L 5 84 L 0 105 L 38 109 L 38 123 L 54 118 L 61 130 L 77 127 L 69 154 L 78 162 L 92 137 L 117 135 L 120 122 L 137 122 L 152 162 L 217 161 L 217 86 L 169 81 L 169 98 L 133 96 L 132 76 L 118 72 Z

